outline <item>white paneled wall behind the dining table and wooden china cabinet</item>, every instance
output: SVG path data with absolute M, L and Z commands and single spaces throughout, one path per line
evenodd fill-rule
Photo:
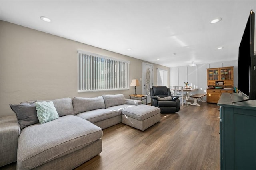
M 235 61 L 225 61 L 216 63 L 206 63 L 198 64 L 194 67 L 181 66 L 170 68 L 170 86 L 185 86 L 184 82 L 188 81 L 189 84 L 198 88 L 198 92 L 194 93 L 204 93 L 206 94 L 207 88 L 207 68 L 219 68 L 234 66 L 234 86 L 237 86 L 238 78 L 238 60 Z M 206 101 L 206 96 L 202 98 Z

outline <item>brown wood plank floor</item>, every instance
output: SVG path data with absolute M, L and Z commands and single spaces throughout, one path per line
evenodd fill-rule
M 102 152 L 75 170 L 218 170 L 216 104 L 181 106 L 140 131 L 122 123 L 103 130 Z

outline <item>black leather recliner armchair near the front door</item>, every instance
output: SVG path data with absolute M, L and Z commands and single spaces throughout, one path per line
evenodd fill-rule
M 151 106 L 161 109 L 161 113 L 175 113 L 180 111 L 179 96 L 172 96 L 170 88 L 166 86 L 152 86 L 150 88 Z M 171 96 L 171 98 L 166 98 Z

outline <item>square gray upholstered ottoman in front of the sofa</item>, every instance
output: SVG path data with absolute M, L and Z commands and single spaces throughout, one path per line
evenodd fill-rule
M 122 110 L 122 123 L 144 131 L 161 119 L 160 109 L 141 104 Z

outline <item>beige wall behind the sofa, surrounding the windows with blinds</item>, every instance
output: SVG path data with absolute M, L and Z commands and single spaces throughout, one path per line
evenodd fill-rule
M 0 21 L 0 47 L 0 117 L 15 115 L 9 104 L 28 100 L 120 93 L 130 98 L 129 94 L 134 94 L 134 87 L 130 90 L 78 93 L 78 49 L 130 61 L 130 82 L 142 78 L 142 60 L 5 21 Z M 156 68 L 169 68 L 158 64 L 153 66 L 153 84 L 156 85 Z M 168 71 L 168 83 L 169 77 Z M 136 88 L 136 93 L 142 94 L 142 89 L 143 86 Z

